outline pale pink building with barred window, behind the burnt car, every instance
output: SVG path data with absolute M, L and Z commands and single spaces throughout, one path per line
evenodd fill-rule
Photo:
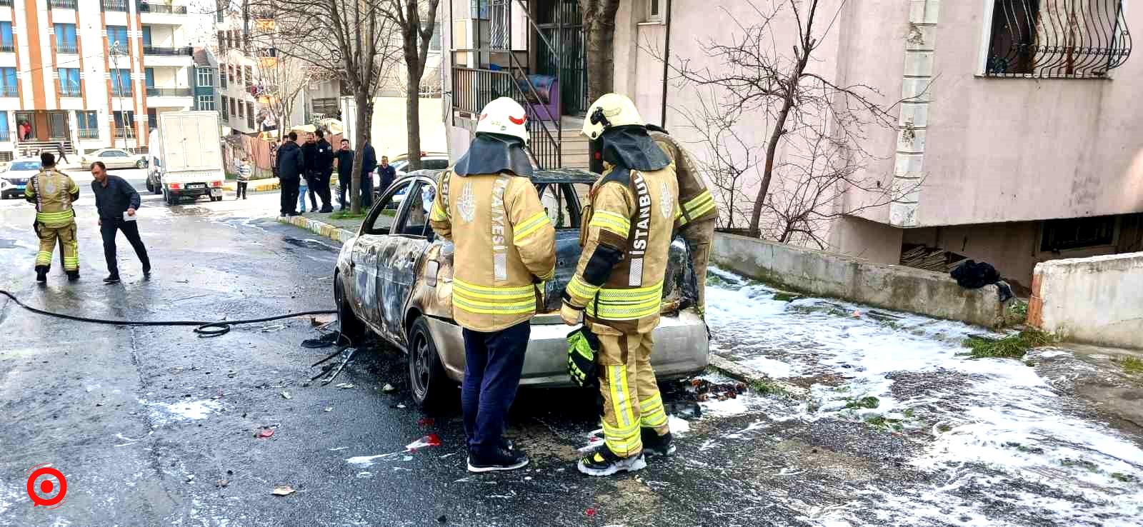
M 767 42 L 789 55 L 798 32 L 789 3 L 623 0 L 615 89 L 689 143 L 700 161 L 710 160 L 714 152 L 682 112 L 712 102 L 717 109 L 718 99 L 677 75 L 664 79 L 658 57 L 669 47 L 676 66 L 726 67 L 710 45 L 734 43 L 776 7 Z M 805 10 L 810 2 L 798 3 Z M 1143 105 L 1135 101 L 1143 59 L 1130 56 L 1129 33 L 1143 27 L 1143 10 L 1135 3 L 822 0 L 812 71 L 871 87 L 897 117 L 895 127 L 869 128 L 860 143 L 871 154 L 862 173 L 868 187 L 894 190 L 896 199 L 863 209 L 869 193 L 845 189 L 828 210 L 842 214 L 821 233 L 825 248 L 936 270 L 986 261 L 1023 286 L 1038 262 L 1143 250 Z M 585 166 L 576 137 L 589 103 L 578 2 L 470 0 L 442 3 L 442 11 L 454 154 L 471 141 L 480 107 L 507 95 L 529 109 L 541 163 Z M 530 91 L 546 88 L 518 81 L 529 74 L 559 87 L 536 103 Z M 765 145 L 769 121 L 748 115 L 735 131 Z M 781 151 L 778 163 L 789 154 Z M 746 178 L 744 195 L 753 195 L 757 179 Z M 725 205 L 726 194 L 716 194 Z

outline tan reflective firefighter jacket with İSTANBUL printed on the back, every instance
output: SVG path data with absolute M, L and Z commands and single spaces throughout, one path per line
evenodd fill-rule
M 612 167 L 596 182 L 580 229 L 583 254 L 563 302 L 584 310 L 589 321 L 654 328 L 678 195 L 673 163 L 649 171 Z

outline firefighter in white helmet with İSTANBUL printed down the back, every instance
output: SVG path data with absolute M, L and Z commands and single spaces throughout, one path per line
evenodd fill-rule
M 580 241 L 583 255 L 563 290 L 560 316 L 599 341 L 604 445 L 580 460 L 590 476 L 636 471 L 642 453 L 673 452 L 650 367 L 671 231 L 678 214 L 674 166 L 628 97 L 607 94 L 588 109 L 583 134 L 604 163 L 592 185 Z

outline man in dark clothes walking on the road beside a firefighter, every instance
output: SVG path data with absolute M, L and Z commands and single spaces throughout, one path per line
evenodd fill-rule
M 127 241 L 135 248 L 135 256 L 143 264 L 143 277 L 151 278 L 151 258 L 139 238 L 139 227 L 135 210 L 139 208 L 139 193 L 122 177 L 107 174 L 103 161 L 91 163 L 91 192 L 95 193 L 95 208 L 99 211 L 99 233 L 103 235 L 103 256 L 107 259 L 107 278 L 103 281 L 119 281 L 119 264 L 115 261 L 115 234 L 123 231 Z

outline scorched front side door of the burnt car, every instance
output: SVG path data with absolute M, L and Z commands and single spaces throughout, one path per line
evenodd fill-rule
M 381 254 L 391 243 L 393 224 L 397 223 L 397 215 L 411 184 L 413 182 L 402 182 L 394 185 L 369 210 L 362 224 L 362 233 L 353 243 L 350 259 L 354 311 L 358 318 L 382 335 L 385 335 L 382 324 L 382 304 L 385 298 L 381 295 Z

